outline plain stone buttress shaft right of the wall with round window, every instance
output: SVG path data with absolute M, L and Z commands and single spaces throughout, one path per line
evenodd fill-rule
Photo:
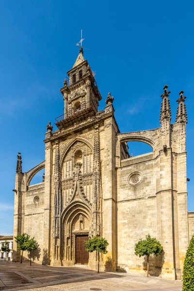
M 175 279 L 174 265 L 174 202 L 172 190 L 171 149 L 160 151 L 157 181 L 157 238 L 164 249 L 162 278 Z

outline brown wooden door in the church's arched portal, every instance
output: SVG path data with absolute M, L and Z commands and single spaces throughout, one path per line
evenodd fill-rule
M 85 250 L 84 241 L 88 241 L 88 235 L 76 236 L 76 264 L 88 264 L 89 253 Z

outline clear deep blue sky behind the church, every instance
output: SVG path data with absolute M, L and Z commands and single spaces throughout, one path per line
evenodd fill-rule
M 59 89 L 78 55 L 81 29 L 102 95 L 99 109 L 111 92 L 122 132 L 160 127 L 165 84 L 175 122 L 178 93 L 185 91 L 194 210 L 193 11 L 192 0 L 0 0 L 0 234 L 13 233 L 17 152 L 23 171 L 44 161 L 46 126 L 63 113 Z M 144 151 L 133 145 L 129 152 L 136 150 Z

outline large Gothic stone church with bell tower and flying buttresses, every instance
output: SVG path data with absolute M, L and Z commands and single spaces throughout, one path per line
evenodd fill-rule
M 85 251 L 84 241 L 103 236 L 109 246 L 100 256 L 101 270 L 143 273 L 146 261 L 135 256 L 134 244 L 149 233 L 164 249 L 163 256 L 150 259 L 150 274 L 180 279 L 194 233 L 194 213 L 187 210 L 184 91 L 175 123 L 165 85 L 161 126 L 121 133 L 110 93 L 104 111 L 98 111 L 102 97 L 82 47 L 67 75 L 60 90 L 64 114 L 56 119 L 57 130 L 47 126 L 45 161 L 23 173 L 17 156 L 14 236 L 34 236 L 40 264 L 94 270 L 97 256 Z M 144 142 L 153 151 L 130 157 L 128 141 Z M 43 182 L 30 185 L 43 168 Z M 16 242 L 14 250 L 18 260 Z

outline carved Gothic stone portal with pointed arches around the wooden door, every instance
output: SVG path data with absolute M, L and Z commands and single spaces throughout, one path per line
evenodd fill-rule
M 90 135 L 93 147 L 79 138 L 66 150 L 62 164 L 62 189 L 64 196 L 64 241 L 63 256 L 74 261 L 75 234 L 89 234 L 90 237 L 102 233 L 102 189 L 100 168 L 99 128 Z M 89 136 L 88 133 L 84 133 Z M 94 151 L 92 150 L 94 148 Z M 78 153 L 82 155 L 78 157 Z M 80 160 L 79 160 L 80 158 Z M 60 158 L 61 159 L 61 158 Z M 71 206 L 72 205 L 72 206 Z M 87 211 L 84 209 L 87 207 Z M 87 212 L 87 214 L 86 214 Z M 76 214 L 77 213 L 77 214 Z M 72 215 L 72 216 L 71 216 Z M 74 218 L 73 218 L 74 215 Z M 68 218 L 71 217 L 70 224 Z

